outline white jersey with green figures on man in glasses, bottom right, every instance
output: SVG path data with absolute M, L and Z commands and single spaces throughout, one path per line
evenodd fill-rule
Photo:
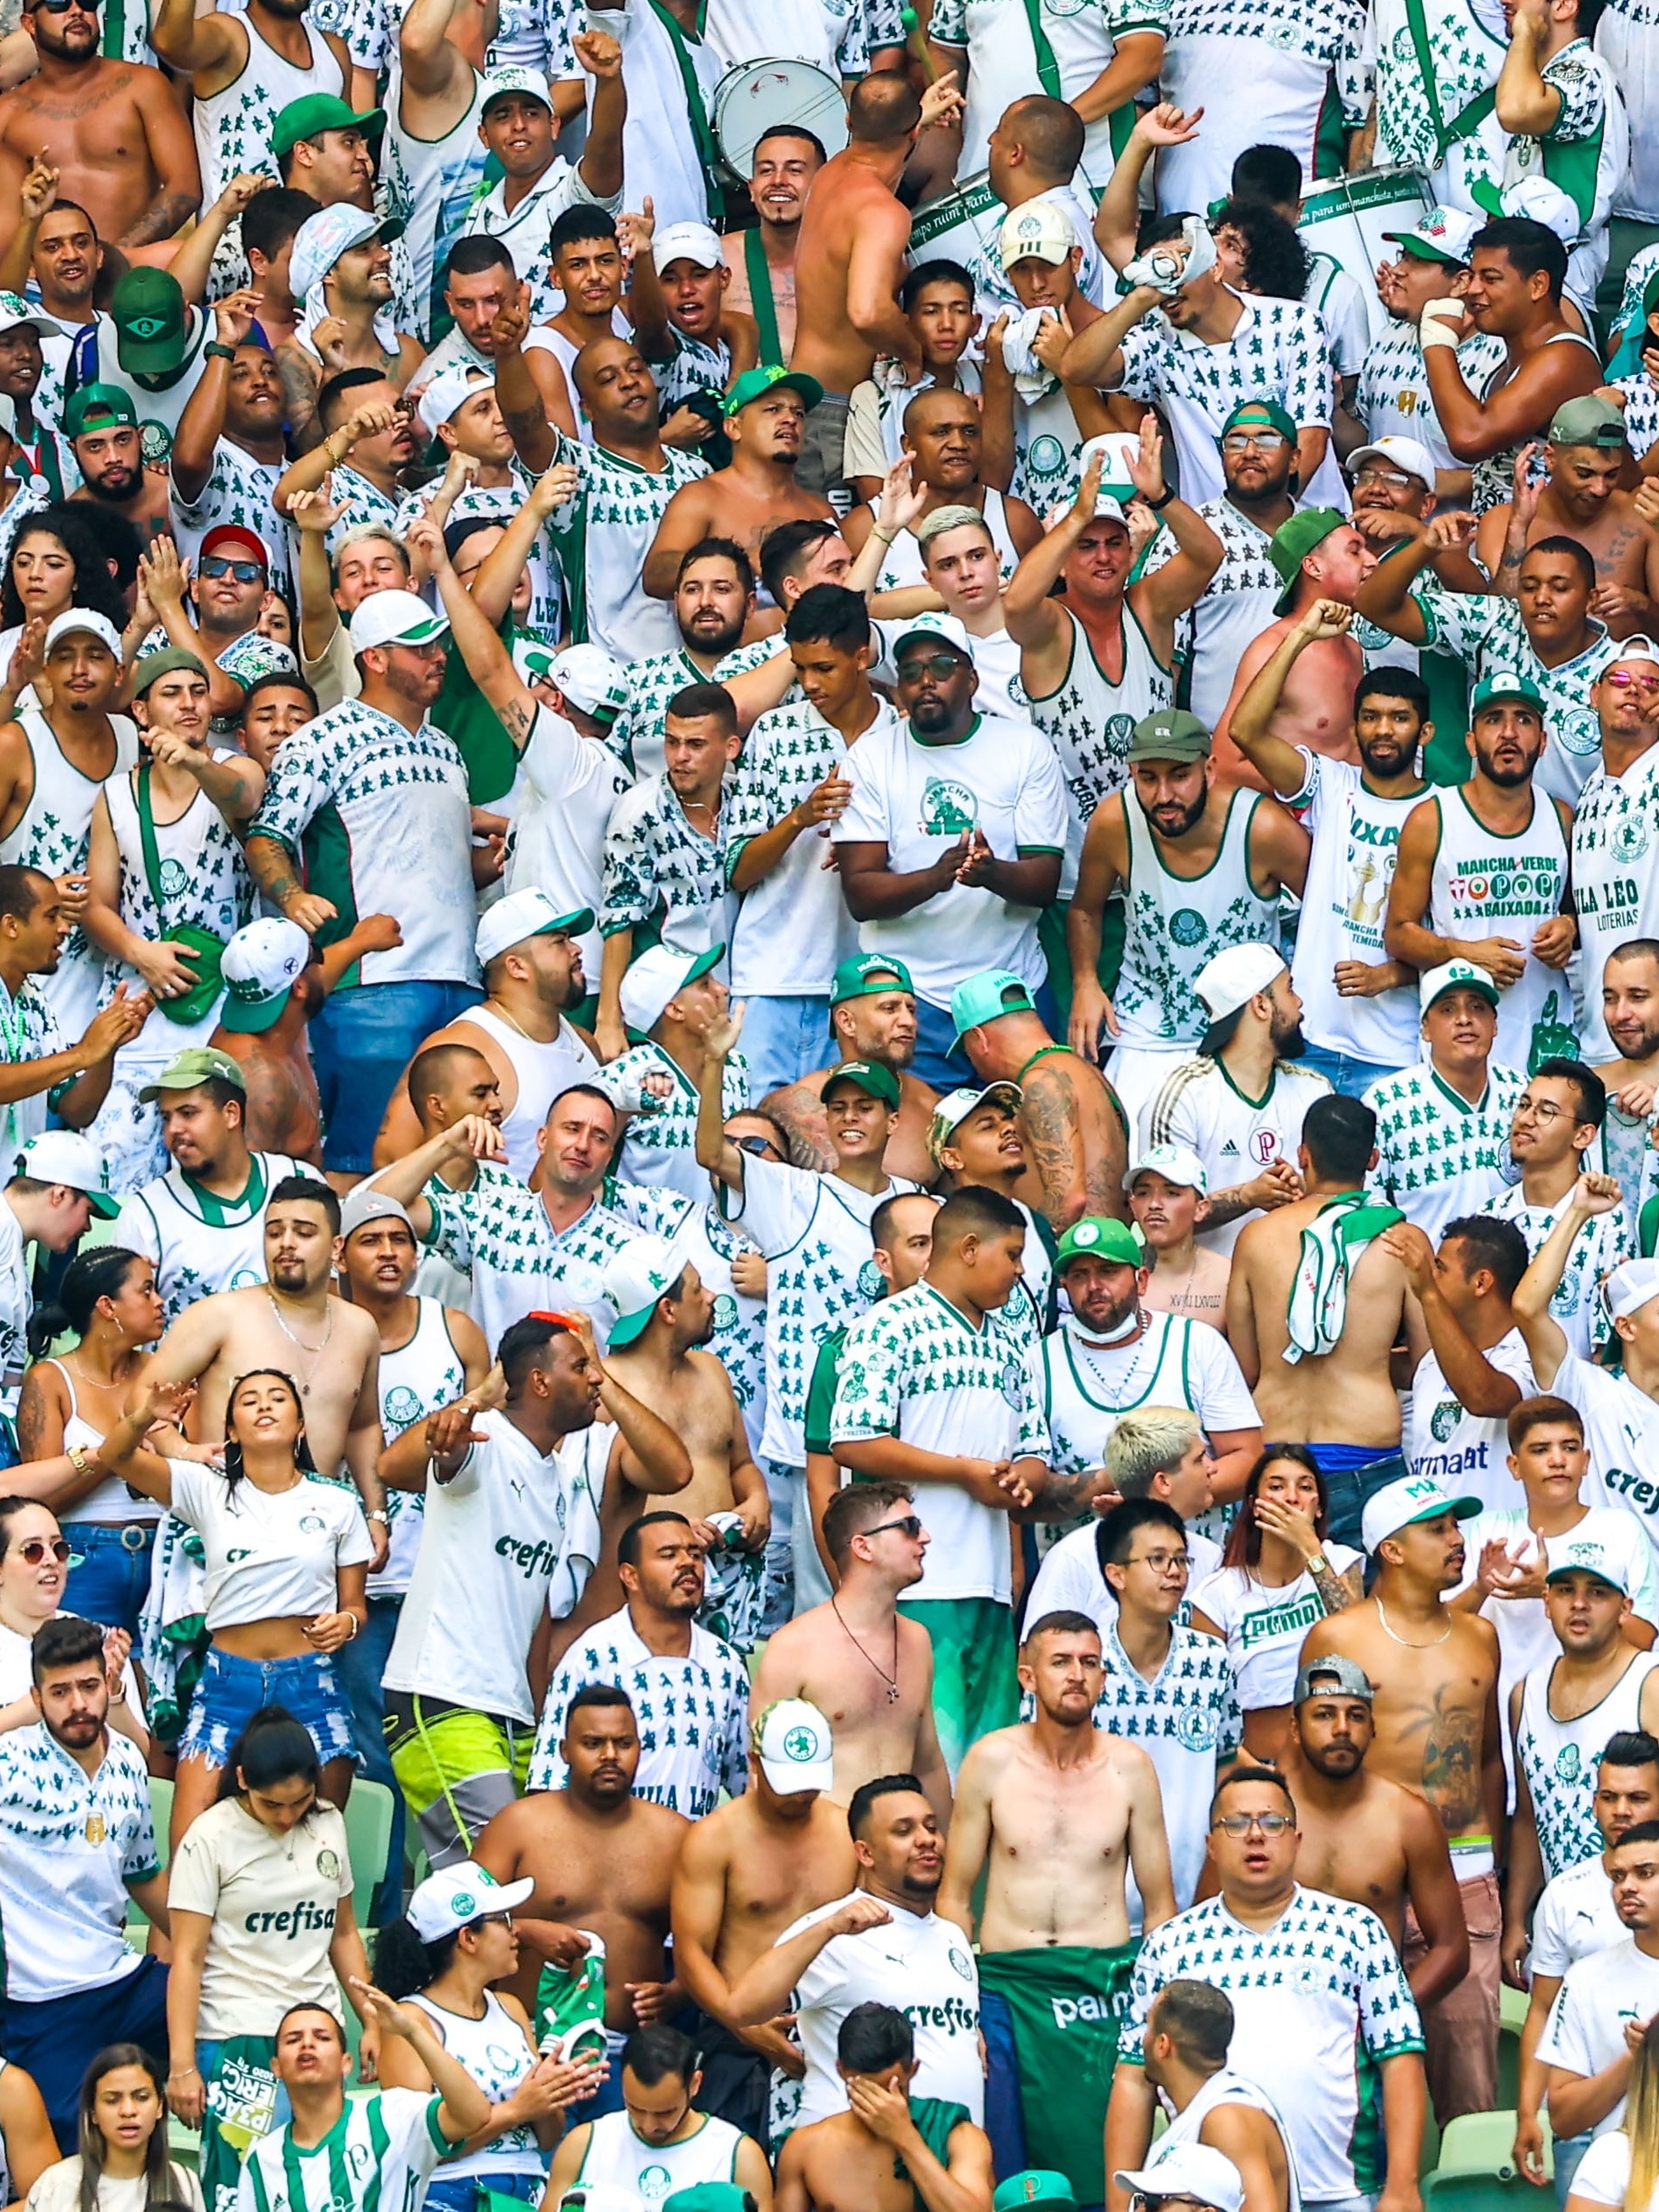
M 1363 1905 L 1303 1889 L 1267 1929 L 1221 1898 L 1177 1913 L 1141 1944 L 1119 2066 L 1146 2064 L 1146 2017 L 1168 1982 L 1210 1982 L 1232 2000 L 1228 2059 L 1283 2115 L 1303 2203 L 1383 2183 L 1383 2059 L 1422 2051 L 1422 2024 L 1394 1938 Z

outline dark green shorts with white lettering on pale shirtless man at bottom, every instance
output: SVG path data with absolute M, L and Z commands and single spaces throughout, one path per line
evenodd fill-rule
M 1106 2104 L 1139 1942 L 982 1951 L 980 1993 L 1009 2006 L 1026 2166 L 1071 2179 L 1079 2205 L 1106 2199 Z

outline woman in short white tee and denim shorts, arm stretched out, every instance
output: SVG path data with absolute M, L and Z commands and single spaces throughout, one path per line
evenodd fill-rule
M 372 1557 L 356 1491 L 316 1473 L 292 1376 L 279 1367 L 237 1376 L 223 1467 L 144 1449 L 148 1429 L 179 1420 L 188 1396 L 190 1385 L 150 1383 L 102 1449 L 108 1473 L 173 1506 L 204 1548 L 210 1646 L 179 1741 L 175 1847 L 212 1803 L 243 1728 L 276 1699 L 310 1730 L 321 1794 L 345 1805 L 352 1714 L 330 1655 L 363 1628 Z

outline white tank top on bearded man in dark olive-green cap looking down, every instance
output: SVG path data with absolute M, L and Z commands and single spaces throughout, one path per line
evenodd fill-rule
M 1124 794 L 1128 931 L 1113 993 L 1121 1044 L 1144 1051 L 1190 1044 L 1197 1051 L 1210 1026 L 1192 993 L 1199 969 L 1228 945 L 1279 942 L 1279 900 L 1263 898 L 1250 880 L 1256 803 L 1256 792 L 1234 792 L 1210 867 L 1201 876 L 1172 876 L 1139 801 L 1133 792 Z

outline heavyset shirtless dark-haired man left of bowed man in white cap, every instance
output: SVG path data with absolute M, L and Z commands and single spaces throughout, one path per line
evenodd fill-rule
M 560 1743 L 562 1790 L 504 1805 L 473 1845 L 498 1882 L 533 1880 L 513 1913 L 520 1964 L 504 1984 L 535 2015 L 544 1964 L 575 1966 L 588 1933 L 604 1944 L 604 2033 L 611 2077 L 573 2119 L 622 2110 L 619 2055 L 635 2026 L 668 2020 L 679 1989 L 668 1962 L 668 1889 L 690 1827 L 684 1814 L 633 1794 L 639 1730 L 626 1690 L 591 1681 L 571 1699 Z

